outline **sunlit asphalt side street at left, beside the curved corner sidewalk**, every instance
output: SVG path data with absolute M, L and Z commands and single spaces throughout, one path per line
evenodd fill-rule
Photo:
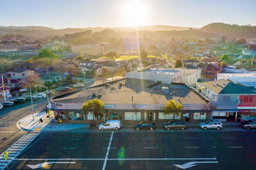
M 37 111 L 45 109 L 47 98 L 33 101 Z M 34 109 L 34 111 L 36 111 Z M 13 107 L 4 107 L 0 110 L 0 154 L 17 141 L 26 131 L 17 128 L 17 122 L 26 115 L 32 114 L 31 102 L 26 104 L 16 104 Z

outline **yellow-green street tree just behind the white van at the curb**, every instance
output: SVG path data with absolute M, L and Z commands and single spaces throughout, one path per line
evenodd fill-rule
M 94 117 L 97 117 L 100 119 L 102 118 L 103 108 L 104 108 L 104 104 L 102 103 L 101 100 L 93 99 L 93 100 L 88 100 L 88 102 L 85 102 L 82 105 L 81 110 L 84 112 L 84 114 L 88 114 L 89 112 L 92 113 L 93 124 L 94 124 Z

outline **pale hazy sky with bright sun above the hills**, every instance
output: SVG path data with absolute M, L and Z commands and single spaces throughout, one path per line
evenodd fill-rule
M 255 0 L 0 0 L 0 26 L 256 26 Z

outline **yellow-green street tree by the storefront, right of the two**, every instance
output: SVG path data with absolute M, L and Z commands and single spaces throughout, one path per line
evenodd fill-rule
M 161 111 L 164 115 L 174 114 L 175 116 L 180 116 L 182 110 L 182 104 L 176 104 L 175 100 L 168 100 L 164 108 Z

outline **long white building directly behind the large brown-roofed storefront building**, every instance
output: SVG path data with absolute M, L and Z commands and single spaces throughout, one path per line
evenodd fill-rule
M 185 83 L 191 85 L 201 78 L 201 70 L 196 69 L 150 69 L 142 71 L 132 71 L 126 73 L 127 78 L 142 80 L 157 80 L 161 83 Z

